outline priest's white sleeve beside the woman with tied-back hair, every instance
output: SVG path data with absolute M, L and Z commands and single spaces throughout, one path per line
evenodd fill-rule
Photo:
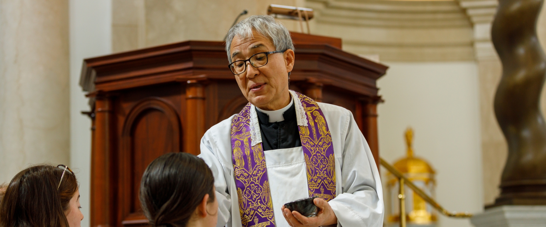
M 207 131 L 201 139 L 201 154 L 199 158 L 203 159 L 209 165 L 214 176 L 214 186 L 216 187 L 216 200 L 218 201 L 218 222 L 217 227 L 222 227 L 231 223 L 232 199 L 228 194 L 227 184 L 225 183 L 224 168 L 217 157 L 216 144 Z

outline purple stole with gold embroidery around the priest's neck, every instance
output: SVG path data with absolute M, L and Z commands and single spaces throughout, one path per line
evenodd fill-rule
M 295 94 L 301 101 L 300 107 L 306 117 L 299 131 L 309 196 L 330 201 L 336 195 L 334 147 L 330 130 L 317 102 L 303 94 Z M 294 103 L 296 101 L 294 99 Z M 248 103 L 233 118 L 231 130 L 233 171 L 241 223 L 243 227 L 275 226 L 264 148 L 262 143 L 252 146 L 252 117 L 251 104 Z

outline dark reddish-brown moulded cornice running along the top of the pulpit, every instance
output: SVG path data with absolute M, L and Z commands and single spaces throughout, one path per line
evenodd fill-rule
M 329 44 L 295 43 L 296 62 L 290 79 L 315 77 L 357 94 L 377 94 L 375 81 L 387 66 Z M 224 43 L 184 41 L 147 49 L 88 58 L 80 83 L 104 92 L 187 80 L 234 80 L 227 67 Z M 351 81 L 347 83 L 346 81 Z M 93 92 L 93 91 L 89 91 Z

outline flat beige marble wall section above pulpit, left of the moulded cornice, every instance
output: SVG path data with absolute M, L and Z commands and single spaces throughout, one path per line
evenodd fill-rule
M 113 0 L 112 50 L 133 50 L 183 40 L 222 40 L 242 10 L 266 14 L 269 4 L 297 5 L 304 0 L 176 1 Z M 299 23 L 281 20 L 291 31 Z

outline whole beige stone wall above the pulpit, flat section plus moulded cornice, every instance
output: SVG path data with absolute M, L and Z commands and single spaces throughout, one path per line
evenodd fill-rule
M 235 17 L 266 14 L 269 4 L 310 7 L 311 33 L 343 39 L 343 49 L 382 61 L 472 61 L 472 23 L 455 1 L 113 0 L 114 52 L 182 40 L 222 40 Z M 296 21 L 280 20 L 300 32 Z

